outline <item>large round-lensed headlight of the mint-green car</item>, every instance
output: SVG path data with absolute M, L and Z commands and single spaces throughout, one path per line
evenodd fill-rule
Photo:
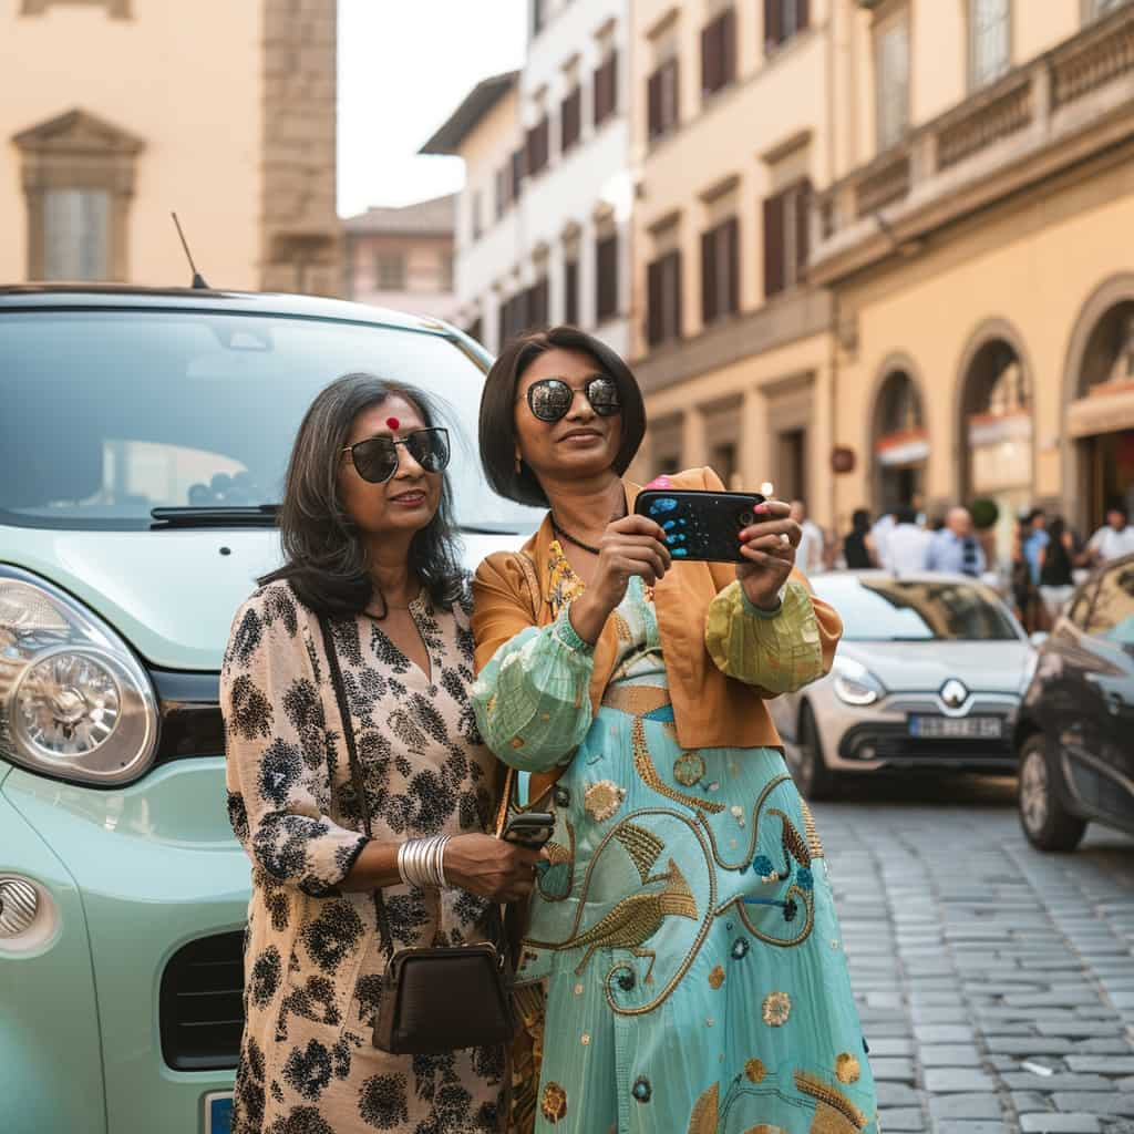
M 158 702 L 126 643 L 44 579 L 0 567 L 0 756 L 113 786 L 153 761 Z

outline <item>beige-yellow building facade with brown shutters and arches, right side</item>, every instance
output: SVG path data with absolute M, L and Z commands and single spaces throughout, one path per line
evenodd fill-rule
M 640 472 L 839 531 L 987 497 L 1002 551 L 1022 507 L 1134 505 L 1134 6 L 659 0 L 635 35 Z

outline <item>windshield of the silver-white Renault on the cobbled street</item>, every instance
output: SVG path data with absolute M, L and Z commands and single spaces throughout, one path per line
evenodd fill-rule
M 972 583 L 819 576 L 816 593 L 843 619 L 844 642 L 1017 642 L 991 591 Z

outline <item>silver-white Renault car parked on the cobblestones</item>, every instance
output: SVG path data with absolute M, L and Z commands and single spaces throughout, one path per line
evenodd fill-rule
M 843 572 L 812 585 L 843 618 L 831 672 L 770 702 L 804 795 L 844 772 L 1013 772 L 1035 649 L 990 587 L 957 575 Z

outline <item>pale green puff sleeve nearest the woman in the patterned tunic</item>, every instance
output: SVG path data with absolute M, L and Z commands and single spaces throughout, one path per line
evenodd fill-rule
M 567 763 L 591 727 L 594 646 L 575 633 L 568 610 L 550 626 L 528 626 L 506 642 L 473 685 L 484 743 L 519 771 Z

